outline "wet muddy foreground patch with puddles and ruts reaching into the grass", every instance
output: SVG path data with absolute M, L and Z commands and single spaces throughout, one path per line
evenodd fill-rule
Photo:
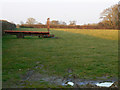
M 37 62 L 39 64 L 39 62 Z M 36 69 L 42 70 L 43 72 L 47 72 L 43 69 L 44 65 L 36 65 L 33 70 L 28 70 L 26 75 L 22 78 L 20 82 L 20 87 L 26 87 L 26 83 L 36 83 L 37 85 L 41 85 L 41 83 L 47 82 L 49 85 L 54 86 L 63 86 L 63 87 L 73 87 L 73 88 L 117 88 L 118 81 L 117 78 L 105 78 L 105 77 L 97 77 L 96 80 L 92 79 L 81 79 L 76 75 L 72 74 L 72 69 L 67 70 L 67 75 L 65 77 L 61 76 L 50 76 L 47 73 L 43 74 L 37 72 Z M 27 82 L 26 82 L 27 81 Z

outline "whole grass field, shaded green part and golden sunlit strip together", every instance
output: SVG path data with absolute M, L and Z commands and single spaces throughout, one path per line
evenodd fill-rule
M 37 28 L 17 30 L 46 31 Z M 36 65 L 44 65 L 47 72 L 37 70 L 41 73 L 62 77 L 67 75 L 68 69 L 78 78 L 85 79 L 118 76 L 117 30 L 57 29 L 51 33 L 59 38 L 3 36 L 3 86 L 9 86 L 9 82 L 18 83 L 22 75 Z

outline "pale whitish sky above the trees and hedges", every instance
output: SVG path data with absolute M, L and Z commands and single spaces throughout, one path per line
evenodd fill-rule
M 45 23 L 50 20 L 75 20 L 77 24 L 97 23 L 100 13 L 117 4 L 119 0 L 0 0 L 0 19 L 15 24 L 24 23 L 27 18 Z

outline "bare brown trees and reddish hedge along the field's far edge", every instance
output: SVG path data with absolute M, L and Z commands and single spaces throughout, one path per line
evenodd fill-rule
M 101 21 L 96 24 L 76 25 L 76 21 L 50 21 L 51 28 L 78 28 L 78 29 L 118 29 L 118 4 L 106 8 L 101 14 Z M 26 23 L 21 21 L 20 27 L 45 28 L 46 24 L 37 23 L 34 18 L 28 18 Z

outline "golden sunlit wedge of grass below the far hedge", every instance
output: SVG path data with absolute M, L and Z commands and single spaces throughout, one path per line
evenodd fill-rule
M 118 30 L 109 29 L 55 29 L 72 33 L 80 33 L 84 35 L 95 36 L 103 39 L 118 40 Z

